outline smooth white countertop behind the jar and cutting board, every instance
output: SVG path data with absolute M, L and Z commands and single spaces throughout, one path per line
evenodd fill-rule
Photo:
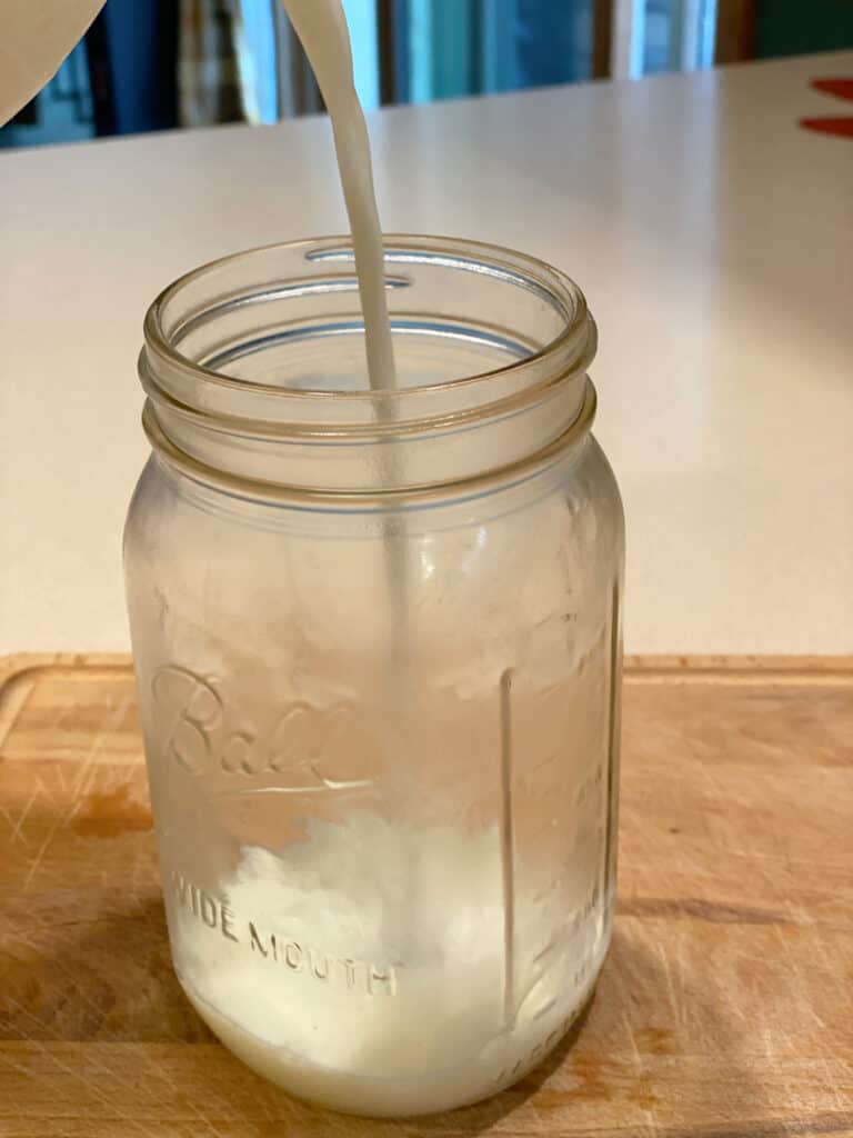
M 853 52 L 381 112 L 383 224 L 515 246 L 601 328 L 633 652 L 853 651 Z M 0 653 L 127 646 L 148 303 L 346 229 L 328 124 L 0 152 Z

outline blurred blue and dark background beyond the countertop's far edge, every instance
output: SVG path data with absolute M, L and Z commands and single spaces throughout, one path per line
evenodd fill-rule
M 853 0 L 343 0 L 366 108 L 853 47 Z M 0 146 L 323 109 L 279 0 L 107 0 Z

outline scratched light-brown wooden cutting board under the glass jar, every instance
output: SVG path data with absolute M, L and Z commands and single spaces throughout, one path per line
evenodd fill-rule
M 630 661 L 620 902 L 589 1019 L 512 1090 L 343 1119 L 172 974 L 124 658 L 0 661 L 2 1138 L 853 1136 L 853 659 Z

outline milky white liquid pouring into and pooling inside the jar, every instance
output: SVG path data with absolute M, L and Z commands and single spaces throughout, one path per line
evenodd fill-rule
M 389 389 L 382 237 L 346 17 L 340 0 L 284 7 L 331 113 L 370 384 Z M 387 461 L 394 471 L 403 459 Z M 406 567 L 386 545 L 389 670 L 397 673 L 388 692 L 405 704 Z M 406 745 L 406 714 L 391 710 L 389 764 Z M 495 825 L 417 831 L 403 810 L 399 822 L 341 811 L 337 822 L 309 822 L 303 840 L 281 849 L 243 847 L 218 897 L 167 884 L 175 964 L 220 1038 L 296 1095 L 384 1115 L 473 1102 L 550 1049 L 587 999 L 606 948 L 601 927 L 555 941 L 552 882 L 515 899 L 507 929 L 503 867 Z M 589 888 L 580 872 L 563 882 L 566 921 L 590 905 Z

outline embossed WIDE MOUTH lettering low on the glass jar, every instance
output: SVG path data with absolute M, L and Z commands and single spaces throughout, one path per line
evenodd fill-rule
M 247 947 L 258 960 L 279 965 L 292 975 L 301 974 L 318 983 L 331 983 L 366 996 L 397 995 L 397 968 L 392 964 L 326 953 L 282 932 L 270 932 L 262 922 L 239 916 L 225 901 L 175 871 L 172 872 L 172 891 L 185 913 L 212 931 L 218 930 L 226 940 Z

